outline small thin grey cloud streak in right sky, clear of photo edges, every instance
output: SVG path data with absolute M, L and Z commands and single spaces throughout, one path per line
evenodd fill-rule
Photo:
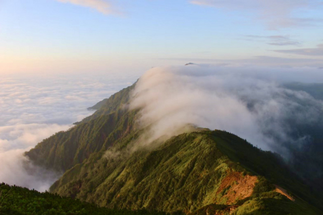
M 244 40 L 248 41 L 258 41 L 258 42 L 265 42 L 268 45 L 278 45 L 278 46 L 284 46 L 284 45 L 301 45 L 302 43 L 291 39 L 291 36 L 289 35 L 271 35 L 271 36 L 258 36 L 258 35 L 246 35 L 243 36 Z

